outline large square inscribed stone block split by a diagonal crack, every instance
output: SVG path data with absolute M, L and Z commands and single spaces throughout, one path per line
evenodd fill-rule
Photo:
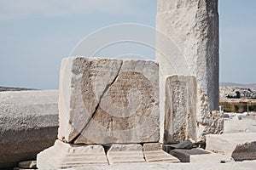
M 73 144 L 159 141 L 159 65 L 62 59 L 58 138 Z

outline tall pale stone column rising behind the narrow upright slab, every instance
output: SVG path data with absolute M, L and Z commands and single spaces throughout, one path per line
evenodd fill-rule
M 197 117 L 203 122 L 206 112 L 218 110 L 218 0 L 158 0 L 156 29 L 160 119 L 166 77 L 195 76 Z

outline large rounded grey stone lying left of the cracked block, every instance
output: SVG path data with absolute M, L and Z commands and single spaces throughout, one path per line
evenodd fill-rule
M 55 90 L 0 93 L 0 168 L 35 159 L 54 144 L 57 105 Z

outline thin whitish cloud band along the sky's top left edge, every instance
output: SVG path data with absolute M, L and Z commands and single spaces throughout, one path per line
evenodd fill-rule
M 8 0 L 0 1 L 0 20 L 56 17 L 95 12 L 121 14 L 132 11 L 134 0 Z

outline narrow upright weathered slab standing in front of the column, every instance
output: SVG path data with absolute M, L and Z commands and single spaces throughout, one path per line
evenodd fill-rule
M 164 144 L 196 139 L 196 90 L 195 77 L 167 77 Z

